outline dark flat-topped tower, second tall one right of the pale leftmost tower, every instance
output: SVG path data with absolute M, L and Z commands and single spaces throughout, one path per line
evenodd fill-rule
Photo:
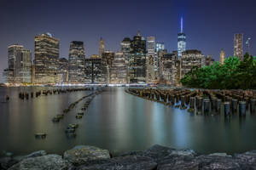
M 68 57 L 68 82 L 84 83 L 84 42 L 70 42 Z

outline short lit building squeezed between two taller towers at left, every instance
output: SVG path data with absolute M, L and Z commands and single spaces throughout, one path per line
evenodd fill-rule
M 68 82 L 68 60 L 61 58 L 59 61 L 59 75 L 61 83 Z

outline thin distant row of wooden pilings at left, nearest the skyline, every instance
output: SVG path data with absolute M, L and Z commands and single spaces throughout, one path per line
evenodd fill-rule
M 38 98 L 41 95 L 47 96 L 52 94 L 66 94 L 71 92 L 78 92 L 78 91 L 86 91 L 86 90 L 92 90 L 92 88 L 67 88 L 67 89 L 52 89 L 52 90 L 38 90 L 36 92 L 20 92 L 19 98 L 20 99 L 29 99 L 33 98 L 34 96 Z

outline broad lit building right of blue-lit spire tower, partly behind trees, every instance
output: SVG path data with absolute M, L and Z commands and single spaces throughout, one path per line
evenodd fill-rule
M 184 51 L 181 58 L 181 77 L 191 71 L 193 67 L 201 68 L 205 62 L 205 56 L 201 54 L 201 51 L 196 49 Z

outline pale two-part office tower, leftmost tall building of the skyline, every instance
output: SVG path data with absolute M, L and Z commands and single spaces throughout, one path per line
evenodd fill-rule
M 8 48 L 8 82 L 31 82 L 32 53 L 22 45 L 11 45 Z

